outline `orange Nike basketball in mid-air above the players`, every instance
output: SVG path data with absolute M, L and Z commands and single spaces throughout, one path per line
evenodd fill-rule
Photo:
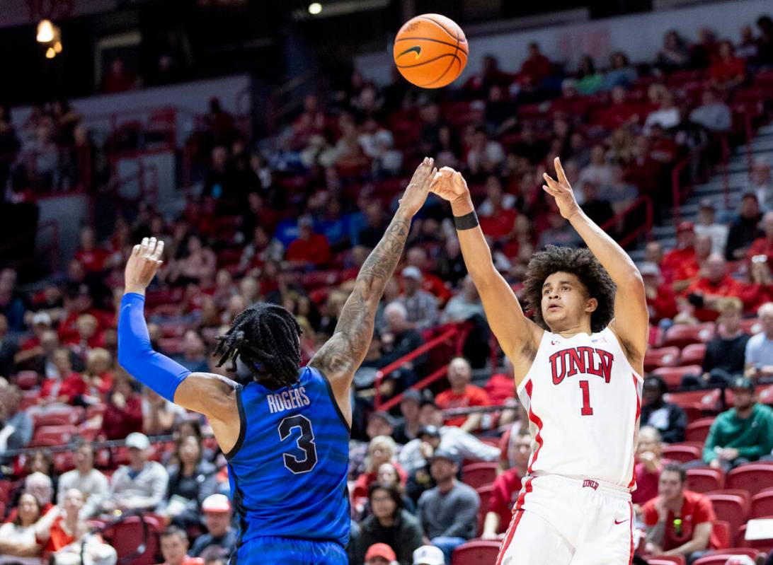
M 467 64 L 465 32 L 440 14 L 405 22 L 394 39 L 394 63 L 409 83 L 422 88 L 451 84 Z

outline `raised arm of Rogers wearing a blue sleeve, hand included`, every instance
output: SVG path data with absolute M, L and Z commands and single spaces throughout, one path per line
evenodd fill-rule
M 237 384 L 218 374 L 191 373 L 153 350 L 145 323 L 145 289 L 161 265 L 164 242 L 145 238 L 126 263 L 125 289 L 118 316 L 118 363 L 152 391 L 209 418 L 223 452 L 239 437 Z

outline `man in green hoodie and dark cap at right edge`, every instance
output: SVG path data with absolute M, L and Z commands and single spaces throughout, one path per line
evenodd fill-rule
M 725 472 L 773 450 L 773 410 L 757 401 L 751 379 L 736 377 L 731 387 L 733 408 L 717 416 L 703 445 L 703 462 Z

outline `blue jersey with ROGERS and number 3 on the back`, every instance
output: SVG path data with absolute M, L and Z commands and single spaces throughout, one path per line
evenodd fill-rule
M 237 390 L 237 404 L 239 439 L 226 455 L 237 547 L 257 537 L 345 546 L 350 430 L 327 377 L 303 367 L 292 387 L 252 382 Z

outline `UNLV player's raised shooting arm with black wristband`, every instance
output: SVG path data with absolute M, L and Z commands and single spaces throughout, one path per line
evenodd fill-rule
M 451 202 L 465 265 L 481 296 L 489 326 L 512 361 L 518 384 L 531 366 L 544 330 L 523 315 L 515 293 L 496 270 L 461 173 L 443 167 L 431 190 Z

